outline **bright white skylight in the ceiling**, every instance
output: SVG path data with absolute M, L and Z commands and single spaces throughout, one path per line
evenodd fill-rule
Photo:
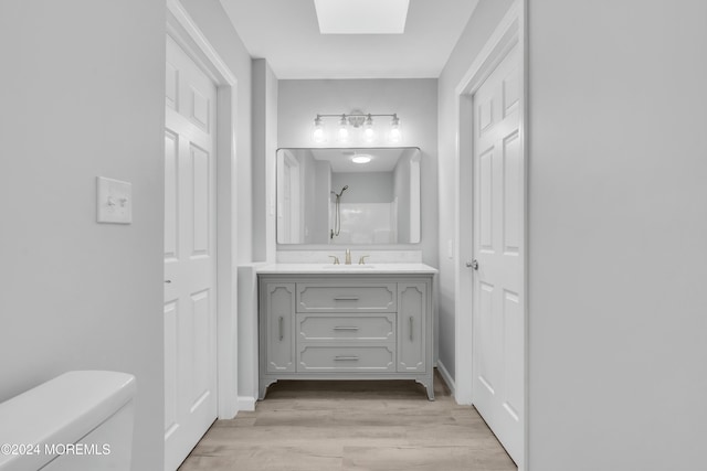
M 321 34 L 402 34 L 410 0 L 314 0 Z

